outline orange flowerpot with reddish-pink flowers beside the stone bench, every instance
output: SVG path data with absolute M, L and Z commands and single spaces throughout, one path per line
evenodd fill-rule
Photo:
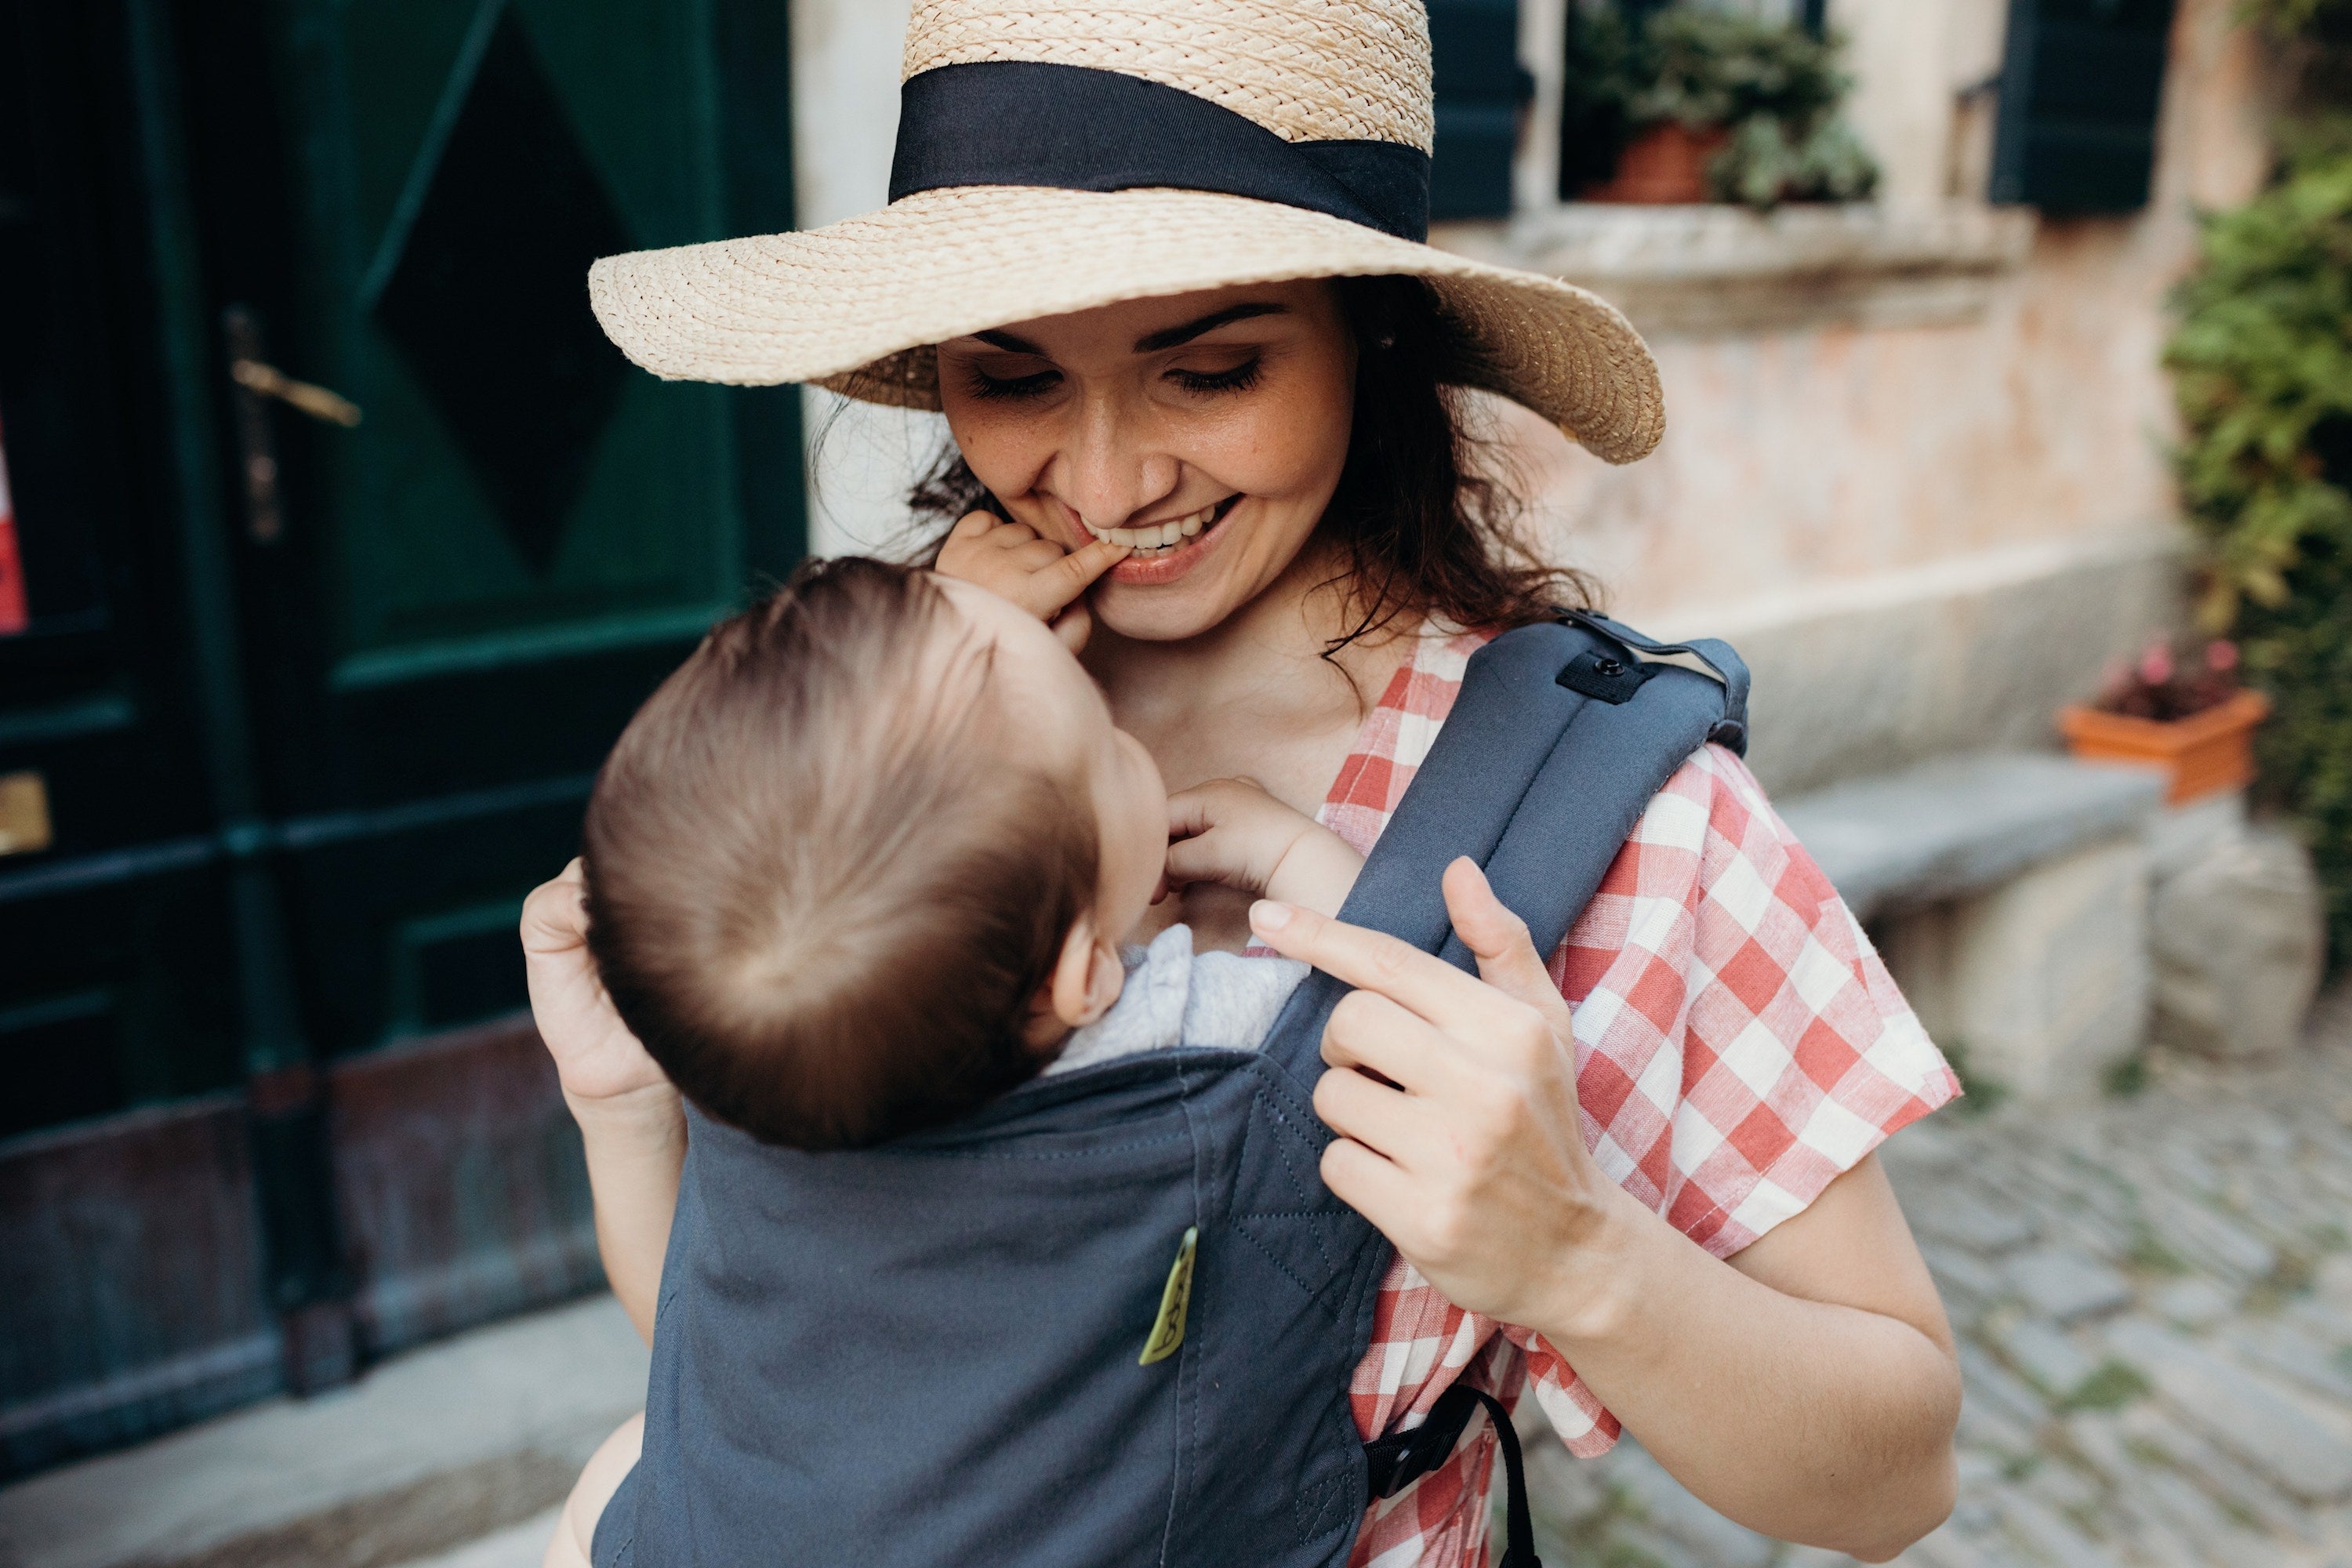
M 2173 806 L 2253 783 L 2253 726 L 2270 712 L 2260 691 L 2237 682 L 2237 644 L 2216 639 L 2194 654 L 2152 642 L 2107 675 L 2089 708 L 2058 710 L 2067 750 L 2086 762 L 2164 769 Z

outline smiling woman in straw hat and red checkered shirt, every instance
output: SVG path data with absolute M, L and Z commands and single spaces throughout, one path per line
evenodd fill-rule
M 1646 348 L 1588 294 L 1418 244 L 1416 2 L 931 0 L 906 75 L 887 212 L 597 263 L 607 331 L 666 376 L 943 409 L 917 503 L 967 515 L 938 569 L 1056 616 L 1171 788 L 1251 776 L 1369 849 L 1468 654 L 1576 588 L 1512 543 L 1458 388 L 1632 461 L 1663 421 Z M 1397 1248 L 1362 1434 L 1531 1375 L 1573 1450 L 1623 1427 L 1740 1523 L 1893 1556 L 1952 1505 L 1959 1375 L 1870 1150 L 1952 1074 L 1722 748 L 1559 952 L 1472 882 L 1449 896 L 1484 983 L 1221 889 L 1162 905 L 1364 992 L 1317 1088 L 1324 1180 Z M 534 910 L 572 952 L 569 891 Z M 675 1192 L 675 1095 L 607 1044 L 590 1150 Z M 666 1211 L 600 1225 L 647 1328 Z M 1491 1443 L 1376 1502 L 1355 1561 L 1484 1561 Z

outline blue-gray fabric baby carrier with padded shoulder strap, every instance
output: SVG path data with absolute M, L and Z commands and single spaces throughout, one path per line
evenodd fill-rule
M 1470 856 L 1550 952 L 1668 776 L 1743 745 L 1745 696 L 1719 642 L 1585 614 L 1496 637 L 1343 919 L 1470 969 L 1437 886 Z M 1310 1110 L 1345 990 L 1310 976 L 1258 1051 L 1117 1058 L 875 1150 L 691 1114 L 644 1455 L 597 1568 L 1341 1568 L 1369 1500 L 1479 1406 L 1510 1469 L 1505 1568 L 1536 1568 L 1489 1396 L 1357 1439 L 1390 1246 L 1324 1190 Z

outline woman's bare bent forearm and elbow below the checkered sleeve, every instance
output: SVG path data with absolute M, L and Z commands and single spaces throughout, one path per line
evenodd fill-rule
M 1783 1293 L 1632 1197 L 1581 1269 L 1606 1284 L 1543 1335 L 1719 1514 L 1884 1561 L 1952 1512 L 1959 1368 L 1940 1321 Z

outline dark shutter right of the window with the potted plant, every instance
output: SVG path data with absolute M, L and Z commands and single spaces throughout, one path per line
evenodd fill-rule
M 2171 26 L 2173 0 L 2009 0 L 1992 200 L 2145 207 Z

